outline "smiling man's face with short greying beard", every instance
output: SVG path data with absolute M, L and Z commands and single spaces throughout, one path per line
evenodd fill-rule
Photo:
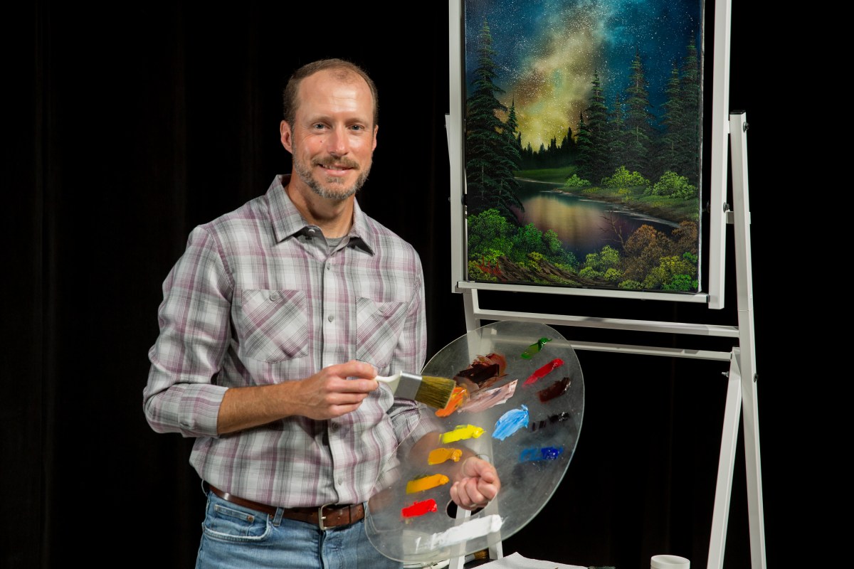
M 304 78 L 293 125 L 282 144 L 299 180 L 322 198 L 345 200 L 365 183 L 377 147 L 373 99 L 363 78 L 325 70 Z

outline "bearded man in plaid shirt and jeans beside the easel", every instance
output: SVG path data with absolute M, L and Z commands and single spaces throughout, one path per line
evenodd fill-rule
M 401 566 L 368 542 L 365 504 L 430 410 L 373 378 L 424 366 L 424 279 L 355 200 L 377 109 L 348 61 L 297 70 L 280 126 L 290 176 L 194 229 L 164 282 L 143 408 L 155 431 L 196 438 L 199 567 Z M 472 456 L 449 494 L 475 509 L 499 489 Z

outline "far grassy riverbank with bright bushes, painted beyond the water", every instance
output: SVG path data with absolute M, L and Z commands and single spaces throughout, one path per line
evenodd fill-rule
M 644 195 L 646 188 L 643 186 L 629 188 L 606 188 L 604 186 L 570 188 L 564 186 L 566 179 L 574 171 L 575 166 L 526 170 L 518 171 L 516 178 L 524 182 L 547 184 L 552 191 L 577 195 L 588 200 L 619 204 L 651 218 L 664 219 L 673 224 L 680 224 L 683 221 L 699 221 L 699 202 L 697 199 L 678 200 L 660 195 Z

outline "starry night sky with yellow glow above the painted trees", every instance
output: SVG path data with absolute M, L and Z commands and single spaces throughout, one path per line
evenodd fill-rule
M 661 112 L 673 66 L 694 38 L 703 53 L 702 0 L 465 0 L 465 74 L 477 68 L 477 37 L 492 35 L 496 94 L 515 103 L 522 143 L 537 150 L 576 131 L 599 72 L 605 104 L 624 97 L 635 50 L 646 72 L 651 113 Z M 502 117 L 504 119 L 504 117 Z

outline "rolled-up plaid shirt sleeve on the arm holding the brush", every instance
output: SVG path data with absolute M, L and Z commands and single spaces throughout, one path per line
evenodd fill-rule
M 217 436 L 226 388 L 212 381 L 229 345 L 233 290 L 216 240 L 197 227 L 163 282 L 160 334 L 149 350 L 143 411 L 155 432 Z

